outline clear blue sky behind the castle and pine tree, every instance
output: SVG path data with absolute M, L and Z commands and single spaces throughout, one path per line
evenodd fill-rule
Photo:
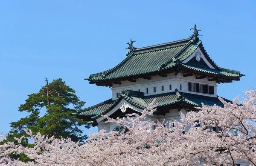
M 111 98 L 111 89 L 84 78 L 121 62 L 129 38 L 137 48 L 181 40 L 195 23 L 214 62 L 246 74 L 218 85 L 218 95 L 232 100 L 256 88 L 255 8 L 255 0 L 1 1 L 0 132 L 27 115 L 18 107 L 45 77 L 63 78 L 87 102 L 84 108 L 93 106 Z

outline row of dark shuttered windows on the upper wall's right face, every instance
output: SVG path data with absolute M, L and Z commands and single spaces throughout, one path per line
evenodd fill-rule
M 214 86 L 199 83 L 189 83 L 189 91 L 204 94 L 214 94 Z

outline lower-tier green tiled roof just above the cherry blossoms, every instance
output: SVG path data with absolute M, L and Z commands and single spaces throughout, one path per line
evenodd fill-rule
M 216 104 L 217 106 L 223 106 L 223 104 L 218 100 L 218 97 L 208 97 L 208 96 L 191 94 L 191 93 L 183 93 L 178 91 L 163 93 L 163 94 L 154 94 L 154 95 L 144 96 L 144 97 L 134 97 L 131 95 L 127 96 L 125 94 L 121 94 L 117 100 L 109 99 L 95 106 L 92 106 L 86 109 L 81 109 L 79 110 L 79 112 L 77 112 L 77 115 L 79 118 L 98 117 L 110 111 L 122 99 L 126 100 L 131 105 L 140 109 L 145 109 L 153 99 L 156 99 L 158 108 L 163 106 L 171 106 L 175 103 L 186 103 L 191 105 L 192 107 L 202 106 L 201 103 L 204 103 L 208 106 L 213 106 L 214 104 Z M 226 100 L 226 101 L 231 102 L 230 100 Z

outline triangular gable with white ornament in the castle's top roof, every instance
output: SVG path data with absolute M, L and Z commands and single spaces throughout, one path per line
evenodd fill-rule
M 201 52 L 201 49 L 199 47 L 195 50 L 195 52 L 193 52 L 193 54 L 191 54 L 189 57 L 183 60 L 182 63 L 186 63 L 187 65 L 191 66 L 215 69 L 204 56 L 203 52 Z

